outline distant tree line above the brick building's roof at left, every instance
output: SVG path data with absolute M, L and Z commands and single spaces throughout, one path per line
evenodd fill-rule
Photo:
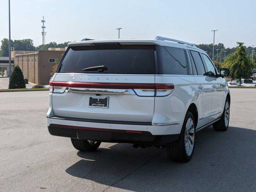
M 68 46 L 69 42 L 64 42 L 57 44 L 56 42 L 50 42 L 48 44 L 42 44 L 39 46 L 34 46 L 32 39 L 21 39 L 21 40 L 11 40 L 10 44 L 14 50 L 21 50 L 21 51 L 38 51 L 38 50 L 48 50 L 48 48 L 65 48 Z M 0 46 L 0 56 L 8 57 L 9 56 L 9 40 L 4 38 L 1 40 Z

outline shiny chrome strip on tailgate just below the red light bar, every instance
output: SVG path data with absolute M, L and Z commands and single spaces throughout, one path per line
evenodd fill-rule
M 67 93 L 135 95 L 132 89 L 67 88 Z

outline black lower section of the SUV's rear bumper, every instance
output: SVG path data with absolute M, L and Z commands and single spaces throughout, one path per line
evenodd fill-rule
M 71 128 L 72 127 L 72 128 Z M 149 132 L 131 133 L 122 130 L 83 130 L 75 126 L 50 124 L 48 131 L 51 135 L 79 138 L 102 142 L 134 143 L 143 145 L 163 145 L 179 138 L 179 134 L 152 135 Z

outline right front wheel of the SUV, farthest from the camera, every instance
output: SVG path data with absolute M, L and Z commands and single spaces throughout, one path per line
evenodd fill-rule
M 229 114 L 230 114 L 230 101 L 226 99 L 224 111 L 222 113 L 220 121 L 213 124 L 213 128 L 216 131 L 226 131 L 229 124 Z

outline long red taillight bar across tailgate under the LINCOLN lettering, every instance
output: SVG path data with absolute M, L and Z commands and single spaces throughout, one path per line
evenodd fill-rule
M 174 89 L 171 84 L 154 83 L 95 83 L 95 82 L 61 82 L 51 81 L 50 86 L 73 88 L 108 88 L 108 89 Z

